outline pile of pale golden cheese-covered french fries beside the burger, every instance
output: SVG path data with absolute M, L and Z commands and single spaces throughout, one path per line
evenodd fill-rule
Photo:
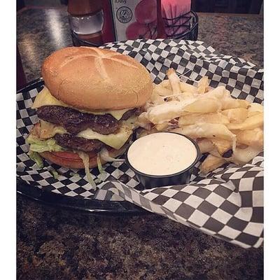
M 174 69 L 153 85 L 153 94 L 138 118 L 139 137 L 177 132 L 197 141 L 208 153 L 200 165 L 209 173 L 226 162 L 241 165 L 263 151 L 263 106 L 235 99 L 224 86 L 209 87 L 204 76 L 195 85 L 183 83 Z

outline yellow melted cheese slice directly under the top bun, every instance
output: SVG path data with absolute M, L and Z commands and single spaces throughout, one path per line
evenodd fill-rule
M 41 92 L 39 92 L 34 100 L 34 104 L 32 105 L 32 109 L 38 109 L 41 106 L 63 106 L 63 107 L 70 107 L 73 108 L 64 102 L 59 101 L 55 97 L 50 94 L 50 91 L 47 87 L 44 87 Z M 77 110 L 76 108 L 74 108 Z M 92 113 L 94 115 L 105 115 L 106 113 L 110 114 L 116 120 L 120 120 L 124 113 L 130 111 L 131 109 L 123 109 L 123 110 L 108 110 L 108 111 L 86 111 L 86 110 L 78 110 L 82 113 Z

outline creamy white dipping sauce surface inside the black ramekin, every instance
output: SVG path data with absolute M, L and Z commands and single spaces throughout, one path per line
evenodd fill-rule
M 171 175 L 190 167 L 197 148 L 183 135 L 159 132 L 134 141 L 127 152 L 130 165 L 147 175 Z

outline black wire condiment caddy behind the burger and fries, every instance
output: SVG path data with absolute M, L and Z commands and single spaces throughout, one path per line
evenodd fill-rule
M 165 29 L 168 30 L 167 38 L 183 39 L 183 40 L 197 40 L 198 34 L 198 16 L 192 10 L 188 13 L 180 15 L 177 18 L 163 18 L 165 22 Z M 179 24 L 180 22 L 180 24 Z M 182 30 L 179 33 L 179 30 Z M 89 41 L 85 41 L 78 37 L 78 35 L 71 30 L 71 37 L 73 45 L 80 46 L 85 45 L 89 47 L 98 47 L 99 45 Z

